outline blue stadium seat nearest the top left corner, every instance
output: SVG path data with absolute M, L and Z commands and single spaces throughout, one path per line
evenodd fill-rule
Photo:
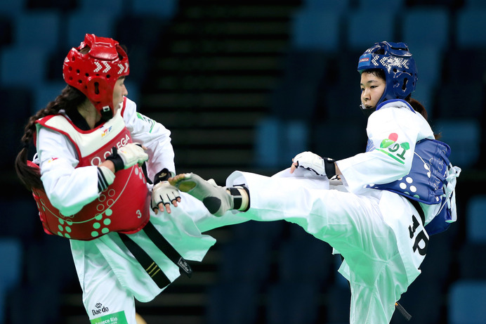
M 60 27 L 58 11 L 27 11 L 15 19 L 13 42 L 32 51 L 46 48 L 55 52 L 60 41 Z

